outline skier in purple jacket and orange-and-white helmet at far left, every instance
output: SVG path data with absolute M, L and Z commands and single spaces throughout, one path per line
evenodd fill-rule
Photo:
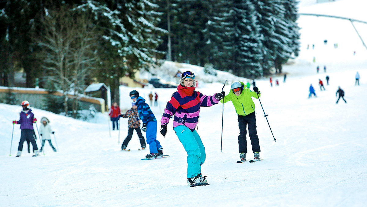
M 19 121 L 13 121 L 13 124 L 20 124 L 21 125 L 21 140 L 19 141 L 17 157 L 21 156 L 23 150 L 23 143 L 28 138 L 29 141 L 32 143 L 34 156 L 39 155 L 38 147 L 36 144 L 36 140 L 33 137 L 33 123 L 36 123 L 37 119 L 34 118 L 34 114 L 32 113 L 32 109 L 29 107 L 28 101 L 22 101 L 23 110 L 19 113 Z

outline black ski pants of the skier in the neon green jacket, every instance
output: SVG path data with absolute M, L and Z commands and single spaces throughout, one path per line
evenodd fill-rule
M 238 135 L 239 153 L 247 153 L 246 141 L 246 125 L 248 126 L 248 135 L 250 135 L 252 152 L 260 152 L 259 138 L 256 131 L 256 117 L 255 112 L 247 116 L 238 115 L 238 127 L 240 128 L 240 135 Z

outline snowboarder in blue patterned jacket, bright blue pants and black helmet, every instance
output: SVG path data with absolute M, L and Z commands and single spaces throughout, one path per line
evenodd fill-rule
M 146 133 L 146 143 L 149 144 L 150 154 L 147 154 L 145 157 L 148 159 L 155 159 L 159 156 L 162 157 L 163 147 L 157 140 L 156 117 L 154 116 L 152 110 L 150 110 L 149 105 L 145 103 L 145 99 L 139 96 L 139 92 L 132 90 L 129 95 L 134 105 L 138 107 L 138 114 L 141 121 L 143 122 L 143 127 L 141 130 Z

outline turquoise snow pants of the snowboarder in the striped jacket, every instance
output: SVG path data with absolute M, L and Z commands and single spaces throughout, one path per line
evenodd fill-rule
M 201 165 L 205 161 L 205 147 L 199 134 L 187 126 L 176 126 L 173 129 L 187 152 L 187 177 L 193 178 L 201 173 Z

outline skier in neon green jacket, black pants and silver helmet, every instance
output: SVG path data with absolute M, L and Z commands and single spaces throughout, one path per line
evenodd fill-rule
M 259 89 L 255 86 L 254 91 L 244 88 L 243 82 L 235 81 L 231 85 L 231 90 L 226 95 L 221 103 L 232 101 L 238 115 L 238 126 L 240 135 L 238 136 L 239 153 L 241 161 L 246 161 L 247 141 L 246 141 L 246 125 L 248 125 L 248 134 L 250 135 L 252 152 L 254 159 L 260 159 L 259 139 L 256 131 L 255 104 L 251 97 L 258 99 L 260 97 Z

